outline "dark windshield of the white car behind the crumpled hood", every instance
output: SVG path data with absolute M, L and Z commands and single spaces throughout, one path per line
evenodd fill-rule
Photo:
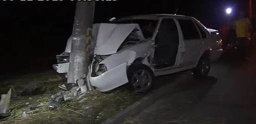
M 145 38 L 152 38 L 158 20 L 153 19 L 130 19 L 117 20 L 115 23 L 138 23 Z

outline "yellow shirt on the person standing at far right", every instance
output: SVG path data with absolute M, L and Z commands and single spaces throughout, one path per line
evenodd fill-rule
M 248 28 L 250 25 L 250 20 L 248 18 L 242 18 L 234 21 L 235 32 L 237 37 L 247 37 Z

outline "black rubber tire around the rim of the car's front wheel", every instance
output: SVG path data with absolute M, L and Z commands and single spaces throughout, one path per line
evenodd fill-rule
M 146 75 L 147 75 L 146 78 L 150 79 L 150 82 L 149 82 L 149 84 L 146 84 L 146 87 L 143 90 L 142 89 L 138 90 L 138 88 L 135 88 L 135 86 L 134 86 L 134 78 L 135 78 L 135 74 L 142 70 L 146 73 Z M 154 73 L 151 70 L 151 68 L 145 64 L 133 63 L 132 65 L 130 65 L 127 69 L 127 77 L 128 77 L 128 81 L 129 81 L 127 83 L 127 88 L 129 90 L 146 93 L 146 92 L 150 91 L 153 87 Z

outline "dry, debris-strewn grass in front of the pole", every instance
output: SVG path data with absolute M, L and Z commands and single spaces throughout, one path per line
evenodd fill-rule
M 0 122 L 0 124 L 101 123 L 143 96 L 123 89 L 109 93 L 95 91 L 87 93 L 83 101 L 71 100 L 62 104 L 59 109 L 50 110 L 48 107 L 49 100 L 54 93 L 61 91 L 58 85 L 64 81 L 66 80 L 54 71 L 46 71 L 21 75 L 2 82 L 1 88 L 8 88 L 13 85 L 18 94 L 24 90 L 26 84 L 36 82 L 38 87 L 42 87 L 42 92 L 37 95 L 12 99 L 10 102 L 12 116 L 8 120 Z M 26 105 L 27 102 L 29 102 L 29 105 Z M 37 104 L 41 104 L 42 107 L 30 111 L 26 118 L 22 116 L 22 113 L 30 106 Z

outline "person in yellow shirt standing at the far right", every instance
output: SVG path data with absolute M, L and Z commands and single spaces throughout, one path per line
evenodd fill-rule
M 237 48 L 239 56 L 242 59 L 248 60 L 248 44 L 249 44 L 249 31 L 251 22 L 249 18 L 245 17 L 243 11 L 239 12 L 239 18 L 234 21 L 234 29 L 236 33 Z

